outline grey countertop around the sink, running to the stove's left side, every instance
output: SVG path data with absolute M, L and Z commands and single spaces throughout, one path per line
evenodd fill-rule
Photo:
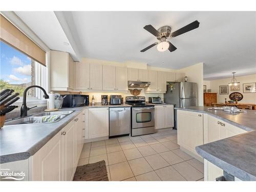
M 20 124 L 4 126 L 0 130 L 0 163 L 28 159 L 53 138 L 63 127 L 86 108 L 127 107 L 130 105 L 95 105 L 79 108 L 63 108 L 59 111 L 74 111 L 55 123 Z

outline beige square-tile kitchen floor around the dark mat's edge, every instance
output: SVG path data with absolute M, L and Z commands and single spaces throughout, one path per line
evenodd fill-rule
M 111 181 L 199 181 L 204 165 L 182 152 L 177 131 L 84 143 L 78 165 L 105 160 Z

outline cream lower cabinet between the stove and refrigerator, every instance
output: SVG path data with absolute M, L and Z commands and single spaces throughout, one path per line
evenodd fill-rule
M 155 129 L 174 127 L 174 105 L 155 105 Z

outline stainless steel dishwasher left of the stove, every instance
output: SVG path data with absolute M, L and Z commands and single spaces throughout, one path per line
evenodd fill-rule
M 110 108 L 110 138 L 129 135 L 131 130 L 131 108 Z

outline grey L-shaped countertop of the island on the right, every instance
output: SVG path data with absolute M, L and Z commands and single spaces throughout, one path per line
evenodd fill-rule
M 175 109 L 206 113 L 248 133 L 197 146 L 197 153 L 243 181 L 256 181 L 256 111 L 246 110 L 247 113 L 232 115 L 222 110 L 207 108 L 198 106 Z

